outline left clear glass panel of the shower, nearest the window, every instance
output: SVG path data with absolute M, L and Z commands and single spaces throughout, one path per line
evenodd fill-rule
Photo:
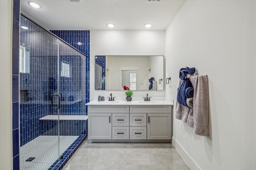
M 23 17 L 20 26 L 20 169 L 48 169 L 59 158 L 58 39 Z

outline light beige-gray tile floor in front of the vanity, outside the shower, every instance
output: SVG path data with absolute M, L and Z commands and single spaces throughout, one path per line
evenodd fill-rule
M 84 141 L 62 170 L 190 170 L 171 143 Z

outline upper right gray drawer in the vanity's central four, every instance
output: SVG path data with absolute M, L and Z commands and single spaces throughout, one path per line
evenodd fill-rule
M 130 126 L 147 126 L 147 114 L 130 113 Z

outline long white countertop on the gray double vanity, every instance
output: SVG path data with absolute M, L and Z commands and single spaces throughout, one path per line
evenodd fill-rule
M 164 98 L 164 97 L 154 97 L 154 99 L 150 98 L 149 102 L 144 101 L 143 99 L 140 100 L 142 97 L 136 97 L 132 99 L 132 101 L 128 102 L 125 98 L 115 98 L 115 101 L 102 101 L 98 102 L 98 100 L 92 100 L 91 102 L 87 103 L 88 106 L 95 106 L 95 105 L 173 105 L 173 100 Z M 95 99 L 95 98 L 94 98 Z

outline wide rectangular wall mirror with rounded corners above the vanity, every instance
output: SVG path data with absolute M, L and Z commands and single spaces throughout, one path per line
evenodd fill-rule
M 164 90 L 164 56 L 95 56 L 95 90 Z

